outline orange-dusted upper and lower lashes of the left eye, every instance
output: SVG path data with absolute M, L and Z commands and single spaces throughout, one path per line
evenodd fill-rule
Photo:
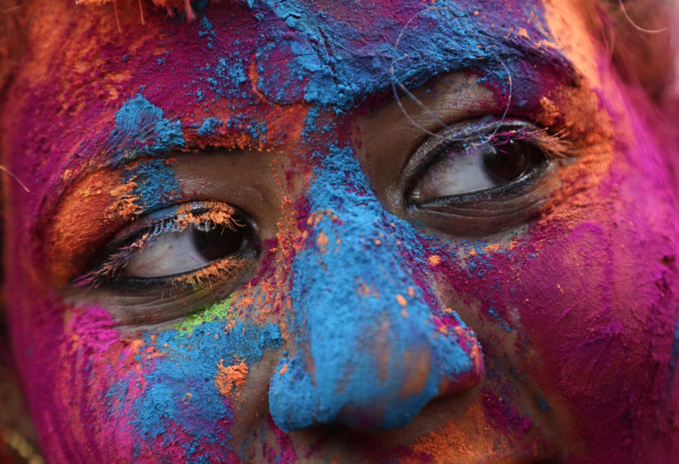
M 114 238 L 105 248 L 104 261 L 85 274 L 74 279 L 76 286 L 96 289 L 100 286 L 115 284 L 134 284 L 139 289 L 156 286 L 169 286 L 170 289 L 187 288 L 193 291 L 221 284 L 248 264 L 247 257 L 236 255 L 214 260 L 191 272 L 167 277 L 120 279 L 122 270 L 129 260 L 144 248 L 153 245 L 164 233 L 181 232 L 189 226 L 199 231 L 212 231 L 218 227 L 230 229 L 250 226 L 249 221 L 240 219 L 242 211 L 220 202 L 192 202 L 180 204 L 175 212 L 165 214 L 160 219 L 150 219 L 135 227 L 138 232 L 125 231 L 122 238 Z M 146 223 L 146 224 L 144 224 Z M 150 223 L 150 224 L 149 224 Z

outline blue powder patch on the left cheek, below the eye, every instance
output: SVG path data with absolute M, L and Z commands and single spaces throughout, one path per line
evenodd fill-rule
M 225 366 L 242 360 L 251 365 L 262 358 L 266 349 L 280 347 L 282 338 L 278 327 L 270 324 L 258 327 L 238 323 L 225 334 L 221 320 L 199 325 L 192 333 L 194 336 L 188 338 L 170 330 L 157 334 L 153 341 L 149 334 L 144 335 L 144 342 L 165 356 L 158 357 L 155 369 L 145 374 L 147 388 L 134 403 L 137 417 L 132 424 L 144 439 L 155 441 L 162 437 L 168 445 L 173 443 L 173 437 L 166 434 L 167 422 L 180 425 L 196 439 L 193 444 L 185 443 L 184 462 L 202 463 L 207 461 L 190 458 L 195 451 L 191 447 L 197 446 L 200 439 L 219 439 L 214 424 L 233 417 L 214 385 L 217 365 L 221 359 Z M 217 339 L 215 334 L 219 335 Z M 122 388 L 122 384 L 117 385 L 110 393 L 124 398 Z

